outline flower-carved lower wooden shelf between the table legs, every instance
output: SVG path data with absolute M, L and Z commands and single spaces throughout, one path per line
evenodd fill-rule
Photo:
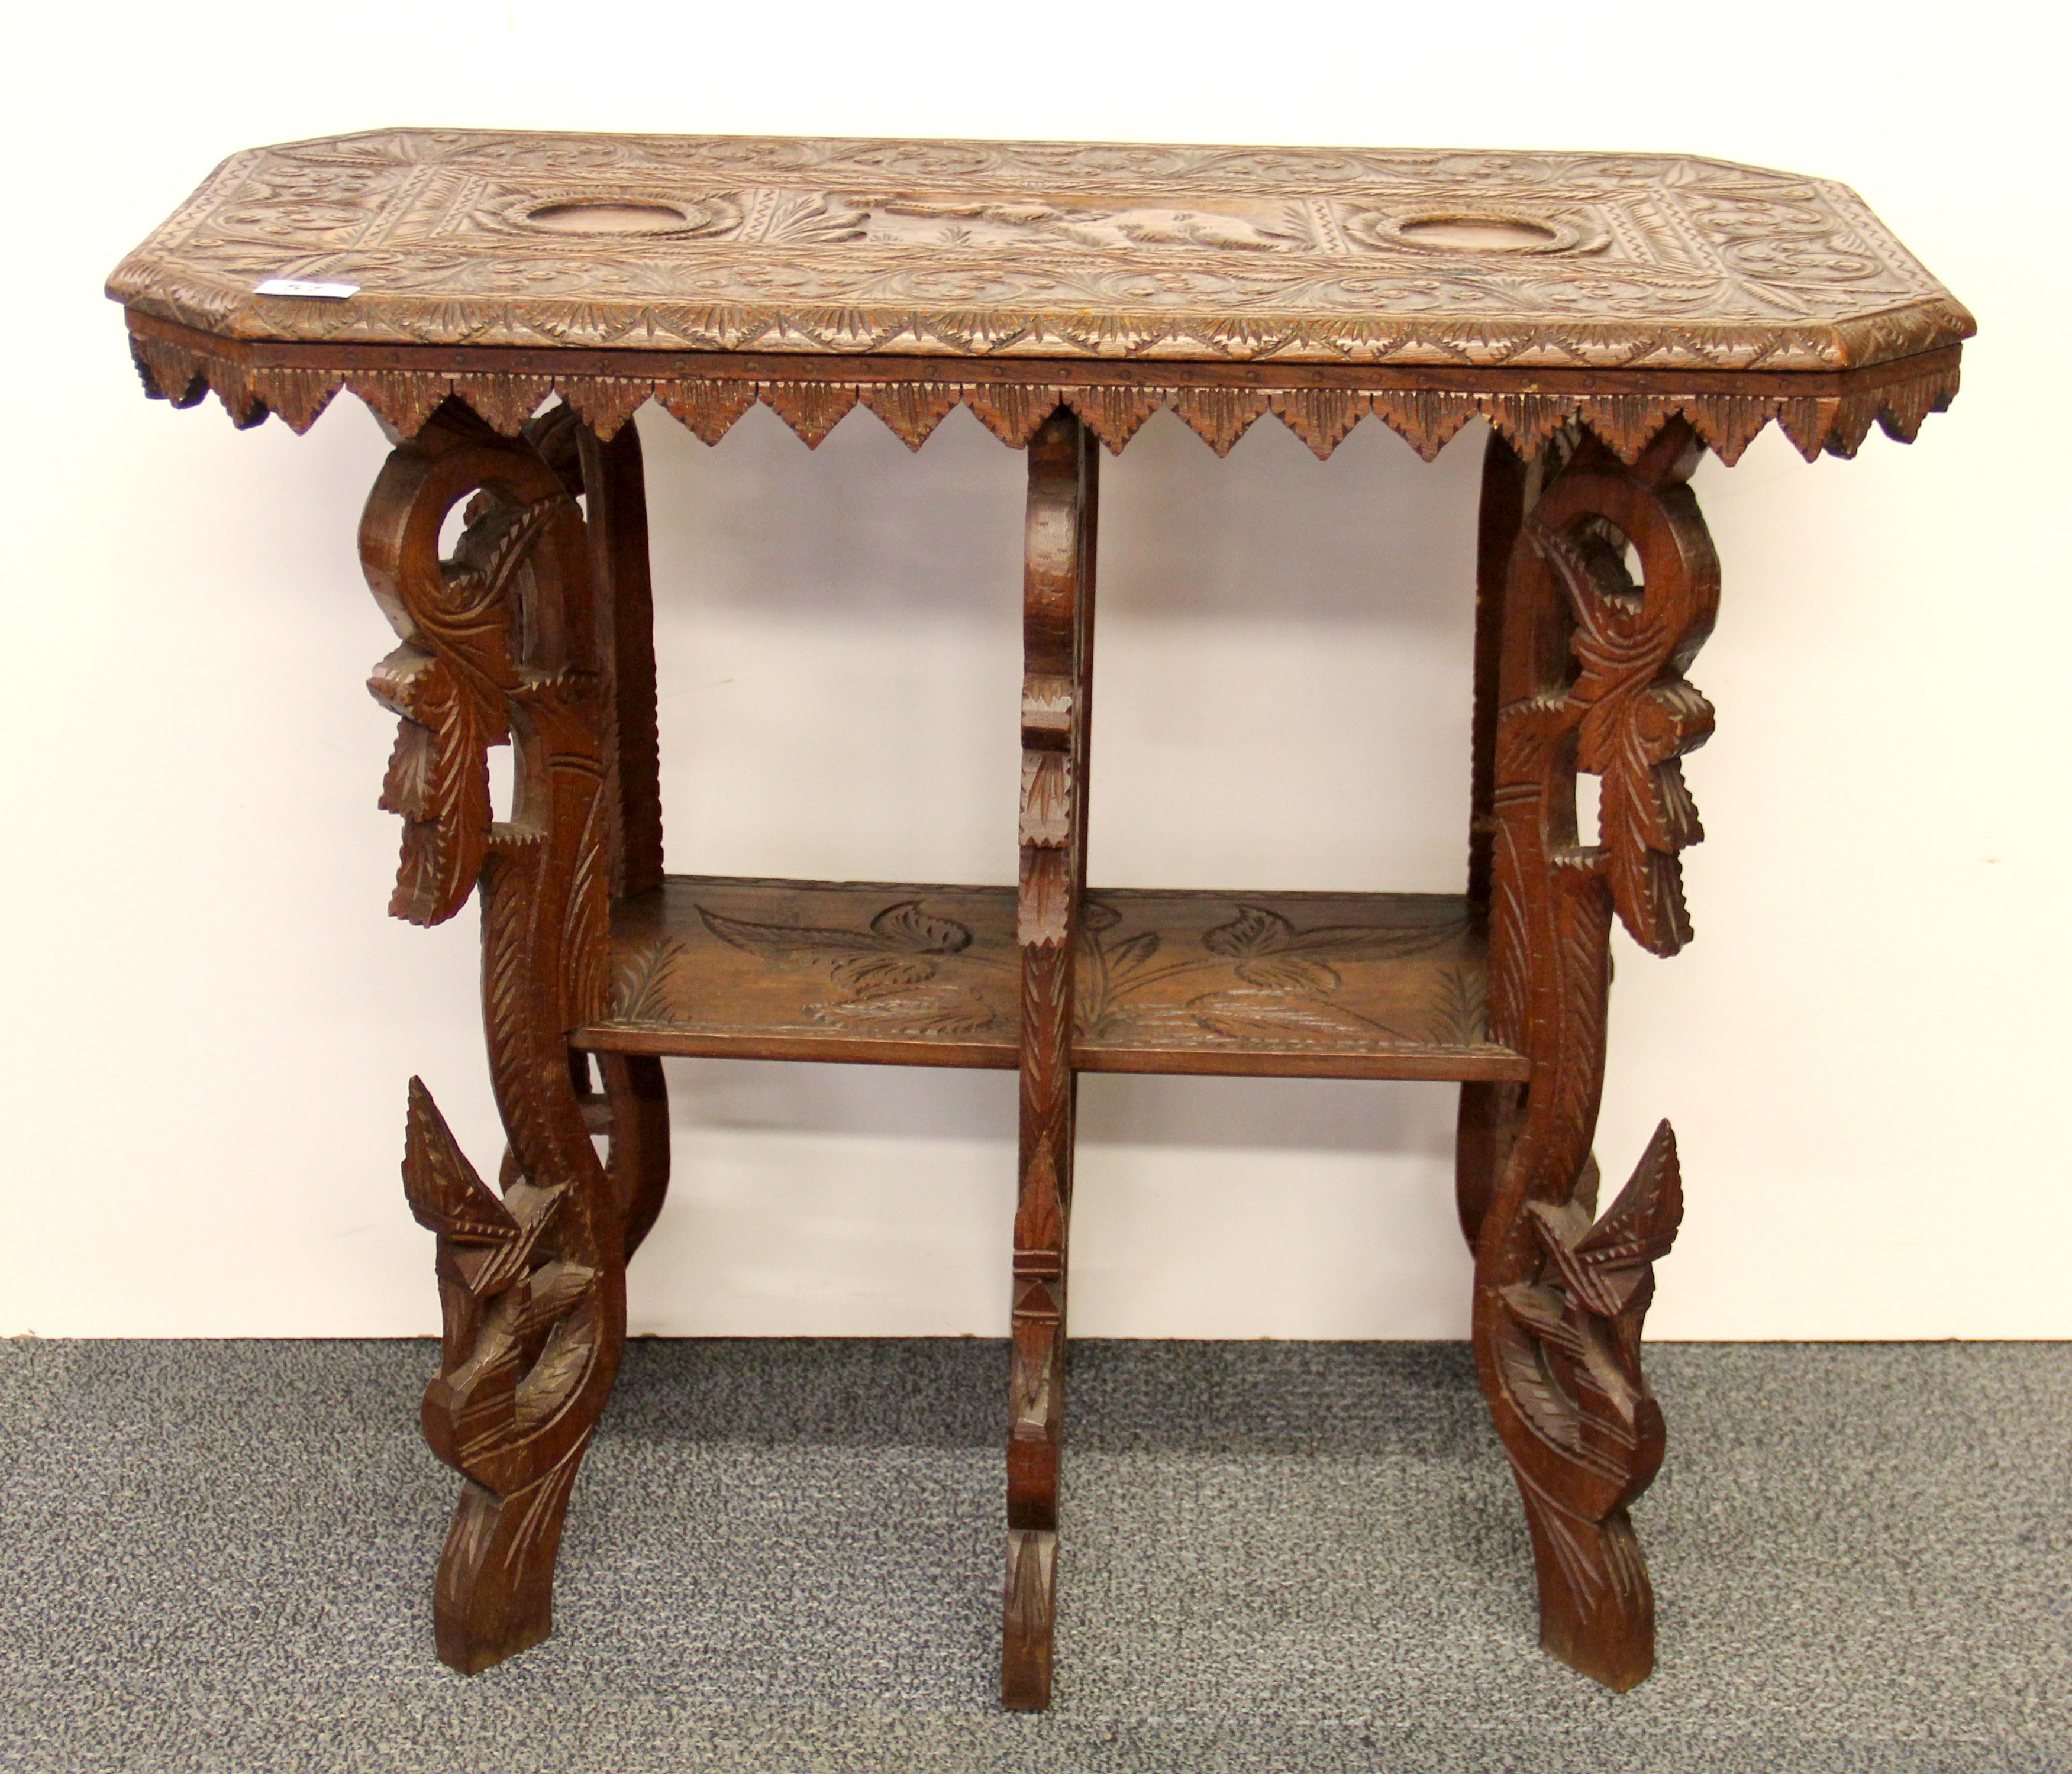
M 1013 1069 L 1011 887 L 673 875 L 620 904 L 603 1053 Z M 1523 1080 L 1448 893 L 1088 895 L 1080 1071 Z

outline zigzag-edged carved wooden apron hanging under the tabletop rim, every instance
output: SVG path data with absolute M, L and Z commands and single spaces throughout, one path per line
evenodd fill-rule
M 1956 346 L 1840 375 L 1647 371 L 1564 377 L 1558 371 L 1374 369 L 1339 371 L 1328 379 L 1322 371 L 1305 375 L 1297 365 L 951 367 L 941 359 L 897 356 L 868 363 L 760 359 L 729 373 L 729 365 L 713 356 L 663 352 L 624 352 L 624 371 L 588 373 L 570 369 L 562 352 L 495 348 L 464 354 L 470 367 L 460 369 L 452 365 L 456 352 L 427 352 L 425 367 L 398 367 L 394 350 L 367 350 L 365 363 L 340 363 L 354 354 L 213 340 L 141 315 L 131 315 L 131 346 L 151 398 L 193 406 L 213 390 L 238 427 L 259 425 L 276 412 L 292 431 L 307 431 L 332 398 L 348 390 L 396 435 L 414 435 L 450 398 L 501 435 L 516 435 L 559 394 L 607 439 L 655 400 L 702 441 L 717 444 L 760 402 L 808 448 L 852 408 L 864 406 L 918 450 L 953 408 L 970 406 L 988 431 L 1019 450 L 1065 402 L 1111 452 L 1121 452 L 1154 412 L 1171 408 L 1218 456 L 1270 412 L 1318 458 L 1328 458 L 1372 414 L 1426 460 L 1471 419 L 1488 419 L 1525 456 L 1539 454 L 1558 431 L 1581 423 L 1629 464 L 1678 419 L 1724 462 L 1740 460 L 1755 435 L 1776 423 L 1807 460 L 1815 460 L 1823 450 L 1854 456 L 1873 425 L 1910 444 L 1927 414 L 1946 410 L 1958 392 Z M 605 354 L 586 352 L 584 361 Z M 518 363 L 501 367 L 512 361 Z M 477 363 L 483 367 L 472 367 Z

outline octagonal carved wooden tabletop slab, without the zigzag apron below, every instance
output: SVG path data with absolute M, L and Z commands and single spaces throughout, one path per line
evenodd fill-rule
M 427 128 L 232 155 L 110 294 L 298 344 L 1510 371 L 1973 332 L 1852 191 L 1718 160 Z

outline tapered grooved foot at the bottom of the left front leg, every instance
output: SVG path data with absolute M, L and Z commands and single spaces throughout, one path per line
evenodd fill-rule
M 512 1496 L 468 1480 L 439 1554 L 431 1604 L 439 1662 L 481 1675 L 553 1631 L 553 1563 L 586 1447 L 588 1436 Z

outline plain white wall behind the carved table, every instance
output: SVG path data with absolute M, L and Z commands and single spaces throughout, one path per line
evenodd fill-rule
M 485 1165 L 472 920 L 383 918 L 390 645 L 354 564 L 381 439 L 147 404 L 114 261 L 257 141 L 390 122 L 1687 149 L 1852 182 L 1981 317 L 1910 450 L 1776 435 L 1699 493 L 1699 941 L 1620 949 L 1600 1150 L 1658 1115 L 1691 1212 L 1662 1337 L 2064 1337 L 2072 1233 L 2064 66 L 2055 15 L 1142 0 L 781 15 L 39 8 L 10 33 L 10 866 L 0 1333 L 435 1324 L 396 1181 L 423 1071 Z M 2045 39 L 2049 37 L 2049 41 Z M 1019 458 L 858 412 L 707 450 L 642 417 L 678 868 L 1013 866 Z M 1094 866 L 1432 887 L 1461 868 L 1477 433 L 1368 421 L 1106 468 Z M 1235 686 L 1241 686 L 1237 690 Z M 680 1065 L 661 1333 L 1001 1333 L 1001 1076 Z M 1096 1078 L 1082 1335 L 1465 1330 L 1450 1090 Z

